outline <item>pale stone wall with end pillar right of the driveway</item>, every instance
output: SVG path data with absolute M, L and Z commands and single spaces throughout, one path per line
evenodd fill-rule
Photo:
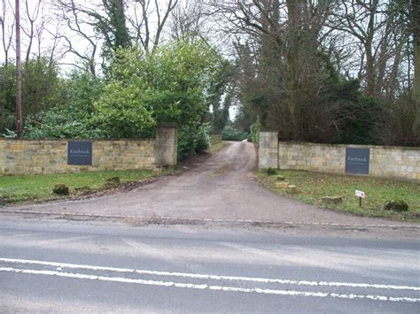
M 269 142 L 260 142 L 260 169 L 276 165 L 278 169 L 345 173 L 346 148 L 369 148 L 370 176 L 420 180 L 420 148 L 418 147 L 278 142 L 276 132 L 270 132 L 269 136 L 266 134 L 262 136 Z M 267 151 L 273 152 L 276 149 L 275 142 L 278 149 L 276 157 L 272 153 L 267 154 Z M 263 160 L 261 160 L 261 155 Z

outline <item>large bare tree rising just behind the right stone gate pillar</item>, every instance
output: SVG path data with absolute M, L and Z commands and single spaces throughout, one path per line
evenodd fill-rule
M 225 31 L 246 42 L 237 44 L 239 51 L 247 51 L 242 58 L 253 59 L 254 71 L 248 74 L 244 91 L 251 95 L 243 98 L 252 103 L 262 123 L 268 108 L 279 106 L 286 122 L 283 129 L 290 131 L 284 135 L 287 138 L 298 140 L 311 123 L 302 112 L 321 88 L 316 82 L 323 81 L 317 55 L 332 4 L 328 0 L 213 0 L 210 4 L 227 25 Z

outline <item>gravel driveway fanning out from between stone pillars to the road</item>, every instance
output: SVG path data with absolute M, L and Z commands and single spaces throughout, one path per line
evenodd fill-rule
M 163 178 L 128 192 L 85 200 L 11 206 L 6 210 L 395 225 L 388 220 L 322 210 L 275 195 L 261 188 L 255 177 L 255 165 L 253 144 L 232 142 L 203 164 L 180 176 Z

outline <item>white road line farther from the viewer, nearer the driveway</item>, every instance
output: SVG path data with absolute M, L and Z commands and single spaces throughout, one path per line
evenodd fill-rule
M 84 265 L 84 264 L 44 262 L 44 261 L 15 259 L 15 258 L 0 258 L 0 262 L 13 263 L 13 264 L 40 264 L 40 265 L 45 265 L 45 266 L 53 266 L 53 267 L 56 267 L 56 269 L 59 268 L 59 270 L 62 270 L 64 268 L 86 269 L 86 270 L 92 270 L 92 271 L 128 272 L 128 273 L 155 275 L 155 276 L 184 277 L 184 278 L 202 279 L 202 280 L 231 280 L 231 281 L 238 280 L 238 281 L 248 281 L 248 282 L 278 283 L 278 284 L 312 286 L 312 287 L 317 287 L 317 286 L 318 287 L 362 287 L 362 288 L 377 288 L 377 289 L 386 289 L 386 290 L 420 291 L 420 287 L 413 287 L 413 286 L 381 285 L 381 284 L 354 283 L 354 282 L 282 280 L 282 279 L 253 278 L 253 277 L 239 277 L 239 276 L 219 276 L 219 275 L 187 273 L 187 272 L 159 272 L 159 271 L 137 270 L 137 269 L 128 269 L 128 268 L 93 266 L 93 265 Z

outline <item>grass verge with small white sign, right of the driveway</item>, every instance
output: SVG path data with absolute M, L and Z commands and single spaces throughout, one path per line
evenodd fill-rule
M 276 188 L 276 175 L 268 176 L 267 172 L 259 172 L 261 183 L 278 194 L 359 216 L 420 222 L 420 185 L 416 182 L 323 172 L 295 170 L 277 172 L 284 176 L 285 181 L 298 186 L 299 191 L 292 195 L 284 188 Z M 362 200 L 362 207 L 359 206 L 359 199 L 354 195 L 355 189 L 366 193 L 366 198 Z M 341 196 L 343 203 L 323 203 L 321 199 L 324 196 Z M 395 212 L 383 209 L 386 201 L 395 199 L 403 199 L 408 203 L 408 211 Z

